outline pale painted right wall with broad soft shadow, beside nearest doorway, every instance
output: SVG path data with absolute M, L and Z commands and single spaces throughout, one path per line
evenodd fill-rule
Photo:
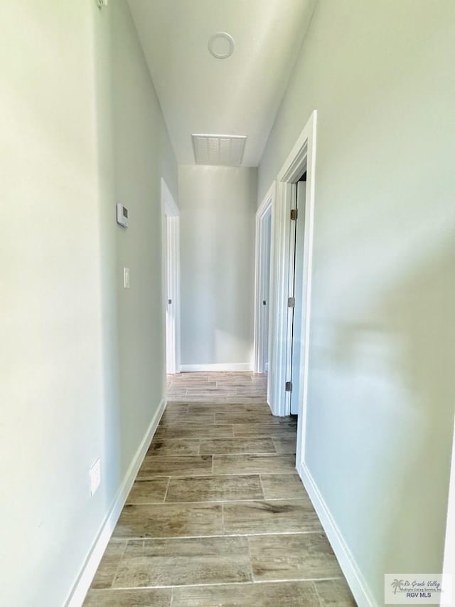
M 259 166 L 318 110 L 306 463 L 383 604 L 441 571 L 455 343 L 455 4 L 322 0 Z

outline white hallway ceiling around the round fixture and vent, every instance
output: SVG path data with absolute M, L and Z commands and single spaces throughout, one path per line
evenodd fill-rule
M 247 135 L 257 167 L 316 0 L 129 0 L 178 164 L 194 164 L 191 134 Z M 227 32 L 232 56 L 208 42 Z

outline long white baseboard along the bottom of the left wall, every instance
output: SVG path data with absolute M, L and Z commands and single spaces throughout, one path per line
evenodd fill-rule
M 158 428 L 159 421 L 161 420 L 161 416 L 163 415 L 164 409 L 166 408 L 166 399 L 163 398 L 159 403 L 159 407 L 156 410 L 154 417 L 152 418 L 149 428 L 144 435 L 144 438 L 141 440 L 141 444 L 134 455 L 132 463 L 129 465 L 126 475 L 124 476 L 124 480 L 122 485 L 120 485 L 119 490 L 117 491 L 117 495 L 115 496 L 114 503 L 110 508 L 109 512 L 107 512 L 104 521 L 100 527 L 100 531 L 97 533 L 97 537 L 95 542 L 93 542 L 92 547 L 87 555 L 87 559 L 85 559 L 85 563 L 82 566 L 80 574 L 77 576 L 77 580 L 75 585 L 73 586 L 70 596 L 65 602 L 65 607 L 81 607 L 84 602 L 85 595 L 90 588 L 90 584 L 92 584 L 92 579 L 95 576 L 98 565 L 102 559 L 102 555 L 105 553 L 105 549 L 109 542 L 109 539 L 114 531 L 114 527 L 117 524 L 117 520 L 120 516 L 120 512 L 124 507 L 124 503 L 127 500 L 131 487 L 135 478 L 137 477 L 137 473 L 139 468 L 141 467 L 141 463 L 144 460 L 144 456 L 146 454 L 147 448 L 149 448 L 149 444 L 151 438 L 154 436 L 156 428 Z

